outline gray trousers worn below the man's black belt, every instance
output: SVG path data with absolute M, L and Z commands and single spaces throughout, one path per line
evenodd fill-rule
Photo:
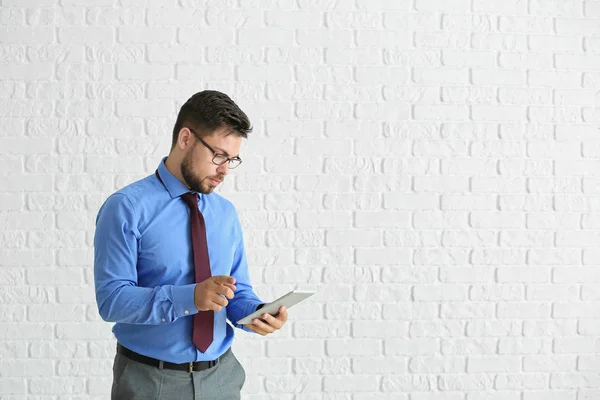
M 213 368 L 198 371 L 159 369 L 117 353 L 113 364 L 112 400 L 239 400 L 246 380 L 233 352 Z

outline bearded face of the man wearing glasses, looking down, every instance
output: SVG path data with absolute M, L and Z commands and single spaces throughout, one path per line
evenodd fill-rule
M 190 189 L 203 193 L 211 193 L 225 179 L 229 172 L 229 162 L 216 165 L 212 162 L 215 154 L 232 158 L 239 155 L 242 138 L 225 129 L 217 129 L 212 135 L 202 138 L 216 153 L 210 151 L 193 136 L 193 145 L 187 151 L 181 163 L 181 175 Z

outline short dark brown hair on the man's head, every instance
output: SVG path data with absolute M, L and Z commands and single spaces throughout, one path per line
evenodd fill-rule
M 216 90 L 198 92 L 181 106 L 173 128 L 171 147 L 177 143 L 179 131 L 186 126 L 202 133 L 212 133 L 225 126 L 232 134 L 243 138 L 252 132 L 248 116 L 229 96 Z

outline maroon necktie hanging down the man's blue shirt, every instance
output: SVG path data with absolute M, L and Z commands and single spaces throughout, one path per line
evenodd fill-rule
M 198 195 L 196 193 L 185 193 L 181 198 L 190 207 L 194 270 L 196 271 L 196 283 L 200 283 L 211 277 L 204 217 L 198 210 Z M 214 311 L 199 311 L 194 315 L 192 342 L 203 353 L 212 343 L 213 325 Z

